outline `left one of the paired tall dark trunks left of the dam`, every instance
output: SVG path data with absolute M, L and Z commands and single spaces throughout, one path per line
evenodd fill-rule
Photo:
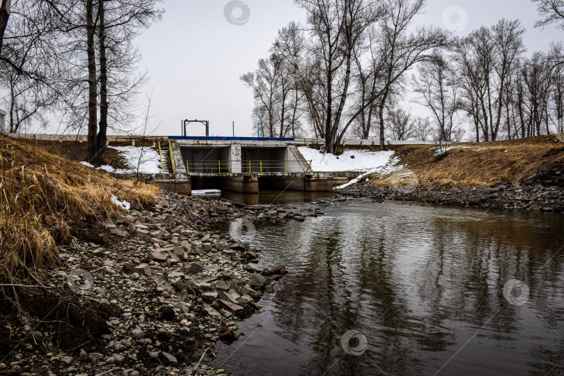
M 94 0 L 86 0 L 86 53 L 88 55 L 88 162 L 92 162 L 97 153 L 97 87 L 96 54 L 94 36 L 96 26 L 93 18 Z

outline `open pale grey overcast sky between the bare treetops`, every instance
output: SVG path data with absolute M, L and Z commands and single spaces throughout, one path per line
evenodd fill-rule
M 293 0 L 242 0 L 233 11 L 228 0 L 166 0 L 162 22 L 154 24 L 136 40 L 148 68 L 152 90 L 150 123 L 153 134 L 180 135 L 180 122 L 189 118 L 210 120 L 210 134 L 253 136 L 253 95 L 240 76 L 256 69 L 259 58 L 268 56 L 279 29 L 305 14 Z M 538 19 L 529 0 L 428 0 L 417 24 L 450 28 L 464 36 L 481 25 L 491 26 L 502 17 L 519 18 L 528 30 L 528 52 L 547 51 L 552 41 L 563 40 L 555 28 L 533 29 Z M 146 104 L 145 95 L 140 105 Z M 414 113 L 423 114 L 415 104 Z M 192 125 L 189 136 L 204 135 L 204 127 Z

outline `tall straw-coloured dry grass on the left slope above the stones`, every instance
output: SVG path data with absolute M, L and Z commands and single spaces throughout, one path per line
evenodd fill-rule
M 53 265 L 72 227 L 119 217 L 112 194 L 146 206 L 159 190 L 0 136 L 0 283 L 21 283 Z

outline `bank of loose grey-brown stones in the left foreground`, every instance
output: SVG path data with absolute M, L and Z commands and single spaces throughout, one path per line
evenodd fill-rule
M 79 231 L 58 267 L 40 271 L 43 287 L 20 292 L 25 314 L 1 307 L 0 374 L 222 375 L 207 366 L 216 343 L 244 335 L 237 321 L 288 273 L 255 270 L 260 250 L 241 234 L 320 214 L 167 194 Z

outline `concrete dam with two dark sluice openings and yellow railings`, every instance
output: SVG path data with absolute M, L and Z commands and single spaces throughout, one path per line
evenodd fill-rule
M 357 173 L 311 169 L 295 139 L 170 136 L 159 142 L 162 174 L 151 177 L 167 191 L 222 189 L 257 194 L 260 189 L 331 191 Z

